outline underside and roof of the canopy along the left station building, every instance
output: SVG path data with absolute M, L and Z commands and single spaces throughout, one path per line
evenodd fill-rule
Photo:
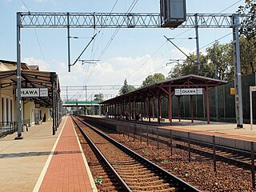
M 16 94 L 16 81 L 17 70 L 0 71 L 1 89 L 13 86 L 14 94 Z M 22 98 L 24 100 L 34 101 L 35 103 L 40 104 L 40 106 L 45 107 L 50 107 L 53 105 L 53 90 L 56 91 L 57 95 L 60 93 L 58 75 L 55 72 L 22 70 L 22 88 L 47 88 L 48 97 Z

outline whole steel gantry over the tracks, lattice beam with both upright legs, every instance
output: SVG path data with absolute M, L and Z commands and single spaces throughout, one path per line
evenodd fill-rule
M 232 28 L 234 43 L 235 104 L 237 126 L 242 127 L 242 88 L 238 28 L 246 16 L 238 14 L 187 14 L 186 22 L 179 28 L 195 28 L 198 46 L 198 28 Z M 160 28 L 160 14 L 115 13 L 17 13 L 17 126 L 21 127 L 21 28 L 67 28 L 70 51 L 70 28 Z M 197 47 L 198 51 L 198 47 Z M 70 54 L 68 54 L 70 55 Z M 70 69 L 70 56 L 68 56 Z M 198 60 L 198 66 L 199 60 Z

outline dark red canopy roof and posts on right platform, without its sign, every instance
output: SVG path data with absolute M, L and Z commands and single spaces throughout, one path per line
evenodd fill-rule
M 226 84 L 226 81 L 219 80 L 216 78 L 206 78 L 194 74 L 189 74 L 186 76 L 182 76 L 179 78 L 170 78 L 167 79 L 166 81 L 162 82 L 156 82 L 153 85 L 150 86 L 144 86 L 142 88 L 139 88 L 137 90 L 134 90 L 130 93 L 127 94 L 122 94 L 116 98 L 111 98 L 109 100 L 106 100 L 104 102 L 101 102 L 100 104 L 102 106 L 108 106 L 112 107 L 114 106 L 114 113 L 115 115 L 117 114 L 116 111 L 118 110 L 118 107 L 125 108 L 125 109 L 120 109 L 119 111 L 125 111 L 126 110 L 126 105 L 128 104 L 131 108 L 131 105 L 133 103 L 140 103 L 141 109 L 144 108 L 144 111 L 147 111 L 147 115 L 149 116 L 150 120 L 150 106 L 152 105 L 152 114 L 154 115 L 154 104 L 153 101 L 157 100 L 157 107 L 159 110 L 158 111 L 158 122 L 160 123 L 160 118 L 162 117 L 162 98 L 168 98 L 168 116 L 170 122 L 172 122 L 172 114 L 171 114 L 171 107 L 172 107 L 172 102 L 171 98 L 174 95 L 176 89 L 180 91 L 190 91 L 190 90 L 200 90 L 201 94 L 206 94 L 206 110 L 207 110 L 207 122 L 210 123 L 210 110 L 209 110 L 209 92 L 216 86 L 221 86 Z M 186 88 L 192 88 L 190 90 Z M 196 89 L 194 89 L 196 88 Z M 198 88 L 198 89 L 197 89 Z M 190 94 L 186 94 L 190 95 Z M 177 95 L 176 95 L 177 96 Z M 180 109 L 180 97 L 182 95 L 178 95 L 178 109 Z M 192 97 L 193 95 L 190 95 L 190 108 L 193 109 L 193 102 L 192 102 Z M 150 104 L 152 103 L 152 104 Z M 137 107 L 136 104 L 134 104 L 135 109 Z M 133 107 L 134 108 L 134 107 Z M 146 110 L 145 110 L 146 109 Z M 107 109 L 106 109 L 107 110 Z M 130 109 L 131 110 L 131 109 Z M 179 110 L 180 111 L 180 110 Z M 143 110 L 140 111 L 142 116 L 143 116 Z M 144 112 L 145 114 L 145 112 Z M 191 110 L 191 119 L 193 122 L 193 110 Z M 180 114 L 179 114 L 179 119 L 180 119 Z

